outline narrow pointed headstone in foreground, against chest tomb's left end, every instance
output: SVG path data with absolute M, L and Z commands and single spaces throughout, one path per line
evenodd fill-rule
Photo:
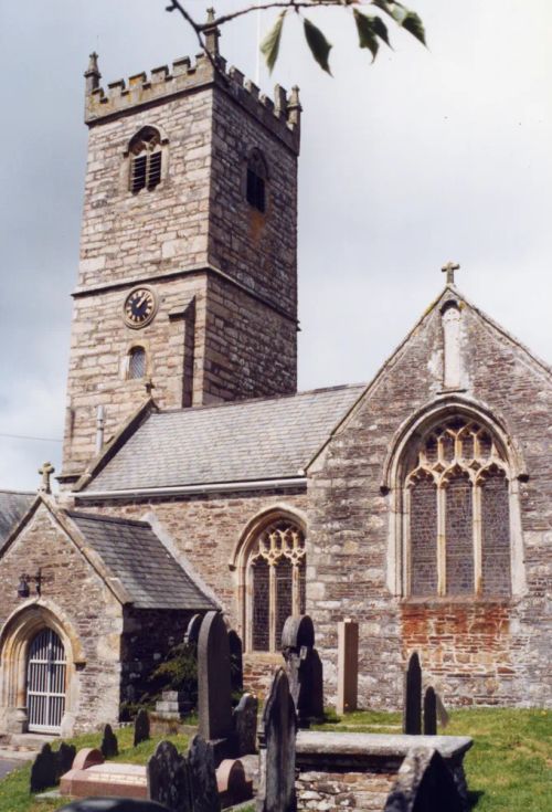
M 295 812 L 297 715 L 284 668 L 276 672 L 263 711 L 257 812 Z

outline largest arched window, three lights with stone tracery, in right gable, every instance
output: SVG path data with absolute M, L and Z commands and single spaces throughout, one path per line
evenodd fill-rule
M 408 594 L 510 594 L 508 464 L 485 426 L 448 418 L 411 445 L 404 539 Z

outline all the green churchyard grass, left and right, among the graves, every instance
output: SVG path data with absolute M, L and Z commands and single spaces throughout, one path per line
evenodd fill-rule
M 362 710 L 338 717 L 329 711 L 319 730 L 351 732 L 397 732 L 401 715 Z M 475 744 L 465 767 L 474 812 L 550 812 L 552 810 L 552 711 L 481 708 L 453 710 L 450 723 L 439 732 L 471 736 Z M 132 748 L 132 728 L 117 732 L 117 761 L 144 764 L 161 738 L 182 751 L 185 736 L 169 736 L 144 741 Z M 77 749 L 97 747 L 99 734 L 72 739 Z M 0 781 L 0 812 L 49 812 L 63 805 L 56 801 L 35 801 L 29 793 L 30 764 Z

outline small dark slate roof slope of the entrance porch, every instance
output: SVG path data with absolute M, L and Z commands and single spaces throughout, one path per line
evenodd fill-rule
M 137 609 L 216 609 L 147 521 L 65 512 Z

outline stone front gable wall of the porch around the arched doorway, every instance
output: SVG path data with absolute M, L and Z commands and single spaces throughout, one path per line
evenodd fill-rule
M 83 559 L 60 527 L 41 506 L 12 547 L 0 568 L 0 628 L 22 605 L 36 603 L 17 595 L 22 572 L 42 568 L 39 604 L 50 608 L 61 624 L 68 621 L 81 643 L 85 665 L 76 671 L 67 690 L 75 715 L 75 731 L 118 720 L 120 604 L 92 567 Z M 34 587 L 31 584 L 31 595 Z

